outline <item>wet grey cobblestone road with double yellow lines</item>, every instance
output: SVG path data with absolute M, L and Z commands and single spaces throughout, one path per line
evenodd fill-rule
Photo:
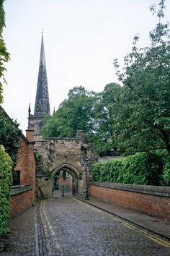
M 40 256 L 170 255 L 170 243 L 74 197 L 42 200 Z

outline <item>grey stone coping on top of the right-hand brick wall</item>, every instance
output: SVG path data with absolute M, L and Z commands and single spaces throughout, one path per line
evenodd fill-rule
M 111 189 L 120 189 L 141 194 L 156 195 L 160 197 L 170 197 L 170 187 L 164 186 L 120 184 L 112 182 L 90 182 L 90 185 L 98 187 L 107 187 Z

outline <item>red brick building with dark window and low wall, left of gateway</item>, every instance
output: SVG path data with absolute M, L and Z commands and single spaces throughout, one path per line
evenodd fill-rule
M 0 106 L 0 111 L 5 119 L 13 122 Z M 6 136 L 6 142 L 8 137 Z M 35 200 L 35 151 L 34 131 L 27 130 L 26 137 L 21 132 L 20 148 L 17 155 L 17 166 L 15 166 L 11 188 L 11 213 L 17 216 L 34 204 Z

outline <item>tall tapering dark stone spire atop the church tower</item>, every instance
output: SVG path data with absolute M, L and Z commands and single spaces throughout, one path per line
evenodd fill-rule
M 35 116 L 50 114 L 50 102 L 48 96 L 48 79 L 45 65 L 45 51 L 43 33 L 41 38 L 40 65 L 37 78 L 37 93 L 35 99 Z

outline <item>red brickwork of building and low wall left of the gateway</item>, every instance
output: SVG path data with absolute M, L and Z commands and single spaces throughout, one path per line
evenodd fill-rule
M 17 192 L 16 195 L 11 195 L 10 215 L 12 217 L 30 208 L 35 197 L 34 132 L 27 131 L 26 136 L 27 138 L 24 135 L 21 136 L 17 166 L 14 168 L 14 170 L 20 171 L 20 192 Z M 30 185 L 31 189 L 25 192 L 23 188 L 27 187 L 27 185 Z

